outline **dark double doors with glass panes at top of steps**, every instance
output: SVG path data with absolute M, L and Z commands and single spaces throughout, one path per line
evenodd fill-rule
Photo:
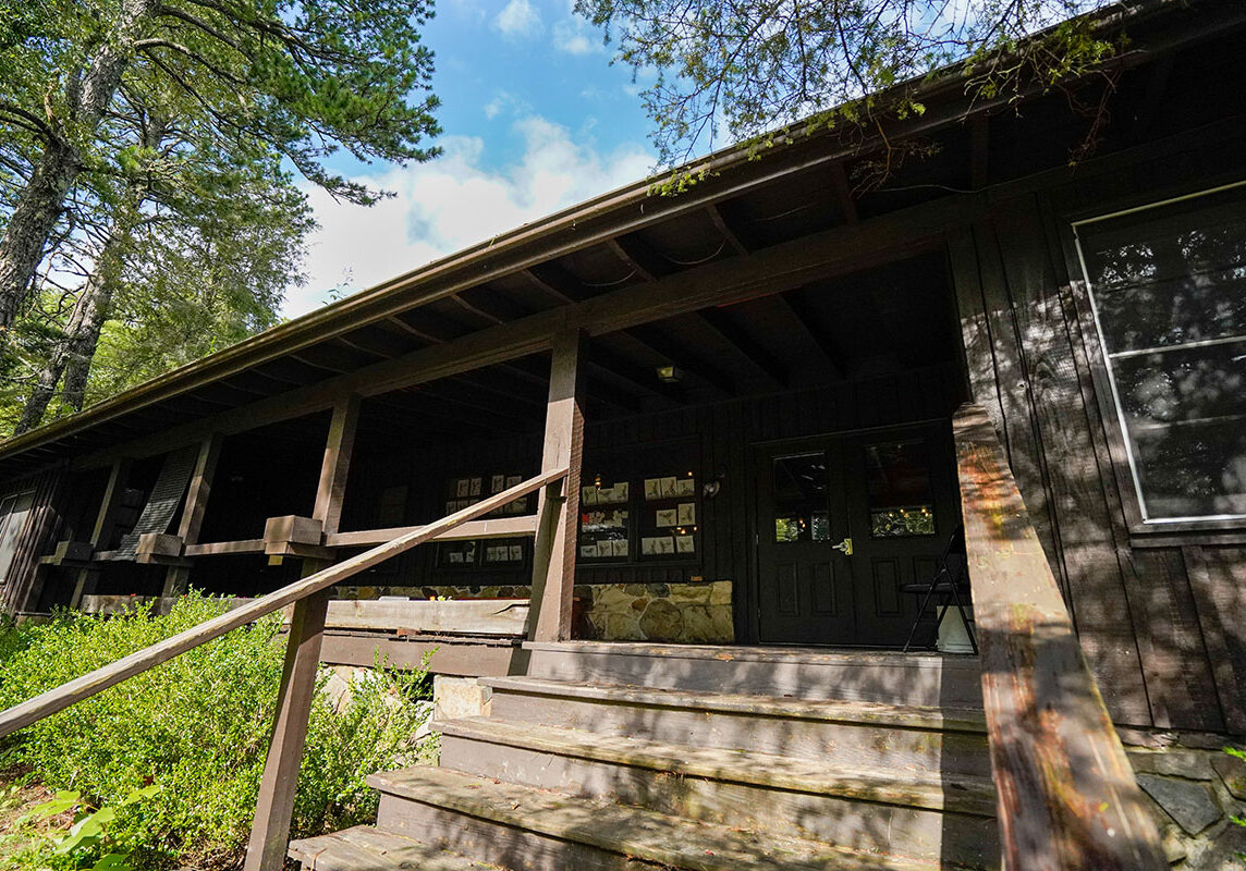
M 918 599 L 902 587 L 933 574 L 959 522 L 948 432 L 910 426 L 760 451 L 763 643 L 905 643 Z M 932 631 L 923 624 L 917 643 Z

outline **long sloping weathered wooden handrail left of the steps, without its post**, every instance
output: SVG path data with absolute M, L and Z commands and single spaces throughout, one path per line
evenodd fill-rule
M 133 675 L 155 668 L 163 662 L 168 662 L 176 655 L 219 638 L 227 632 L 245 626 L 247 623 L 253 623 L 274 611 L 280 611 L 292 602 L 298 602 L 315 592 L 326 589 L 328 587 L 345 581 L 366 568 L 371 568 L 376 563 L 404 553 L 416 545 L 432 541 L 445 532 L 450 532 L 468 521 L 487 515 L 503 505 L 508 505 L 510 502 L 541 490 L 542 487 L 566 476 L 567 469 L 559 469 L 528 478 L 510 490 L 505 490 L 495 496 L 481 500 L 476 505 L 464 508 L 462 511 L 456 511 L 455 513 L 442 517 L 441 520 L 429 523 L 427 526 L 416 527 L 384 545 L 374 547 L 373 550 L 365 551 L 364 553 L 354 556 L 349 559 L 344 559 L 340 563 L 310 574 L 300 581 L 295 581 L 294 583 L 282 587 L 268 596 L 263 596 L 249 604 L 229 611 L 209 621 L 204 621 L 186 632 L 181 632 L 157 644 L 152 644 L 142 650 L 131 653 L 128 657 L 123 657 L 113 663 L 97 668 L 88 674 L 83 674 L 80 678 L 75 678 L 74 680 L 64 683 L 60 687 L 47 690 L 46 693 L 36 695 L 27 702 L 22 702 L 21 704 L 14 705 L 5 712 L 0 712 L 0 738 L 27 726 L 31 723 L 36 723 L 45 716 L 50 716 L 60 710 L 64 710 L 77 702 L 95 695 L 96 693 L 101 693 L 127 678 L 132 678 Z

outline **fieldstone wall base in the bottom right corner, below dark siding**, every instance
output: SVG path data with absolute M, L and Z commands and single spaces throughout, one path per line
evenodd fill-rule
M 1164 852 L 1181 871 L 1246 871 L 1246 761 L 1220 749 L 1126 746 Z

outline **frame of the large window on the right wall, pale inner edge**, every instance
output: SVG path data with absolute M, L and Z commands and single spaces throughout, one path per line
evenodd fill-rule
M 1124 407 L 1116 390 L 1116 374 L 1108 358 L 1108 343 L 1103 335 L 1099 309 L 1095 303 L 1095 293 L 1090 283 L 1089 270 L 1087 269 L 1079 228 L 1240 188 L 1246 188 L 1246 179 L 1235 176 L 1232 181 L 1199 187 L 1196 189 L 1186 188 L 1181 192 L 1169 193 L 1168 196 L 1158 196 L 1156 192 L 1150 192 L 1148 196 L 1131 197 L 1129 202 L 1119 203 L 1111 211 L 1104 211 L 1100 207 L 1094 211 L 1085 211 L 1082 214 L 1067 214 L 1062 222 L 1062 236 L 1064 236 L 1065 240 L 1065 259 L 1069 277 L 1072 278 L 1070 287 L 1077 302 L 1078 319 L 1082 321 L 1083 345 L 1087 349 L 1094 395 L 1108 437 L 1110 465 L 1116 476 L 1121 507 L 1124 508 L 1126 527 L 1130 535 L 1155 537 L 1246 530 L 1246 513 L 1158 520 L 1149 520 L 1146 517 L 1143 508 L 1145 497 L 1141 491 L 1141 478 L 1138 475 L 1133 442 L 1129 436 Z

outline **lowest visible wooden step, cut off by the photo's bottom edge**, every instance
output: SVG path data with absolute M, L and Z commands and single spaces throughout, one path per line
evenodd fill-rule
M 303 871 L 503 871 L 373 826 L 290 841 L 288 855 Z

